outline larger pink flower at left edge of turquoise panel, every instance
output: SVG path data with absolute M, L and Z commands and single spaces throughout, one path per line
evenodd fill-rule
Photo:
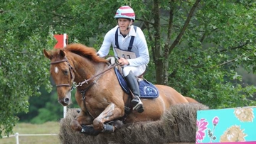
M 199 140 L 203 140 L 206 136 L 206 126 L 208 126 L 208 122 L 205 118 L 201 118 L 200 121 L 196 121 L 196 143 L 199 143 Z

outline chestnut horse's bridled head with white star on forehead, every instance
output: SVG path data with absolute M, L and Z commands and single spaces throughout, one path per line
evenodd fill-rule
M 63 50 L 43 50 L 45 57 L 50 60 L 50 75 L 56 84 L 58 102 L 63 106 L 71 104 L 71 87 L 75 74 Z

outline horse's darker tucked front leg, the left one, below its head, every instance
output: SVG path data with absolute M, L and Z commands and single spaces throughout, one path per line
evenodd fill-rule
M 93 118 L 89 116 L 85 111 L 80 111 L 78 116 L 70 122 L 70 126 L 74 131 L 82 131 L 82 125 L 92 124 Z

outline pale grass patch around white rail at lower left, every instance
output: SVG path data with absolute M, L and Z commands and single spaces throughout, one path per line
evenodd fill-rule
M 18 134 L 58 134 L 60 125 L 58 122 L 47 122 L 43 124 L 18 123 L 14 129 Z M 57 144 L 60 143 L 58 135 L 36 135 L 36 136 L 18 136 L 19 144 Z M 16 144 L 15 137 L 1 138 L 1 144 Z

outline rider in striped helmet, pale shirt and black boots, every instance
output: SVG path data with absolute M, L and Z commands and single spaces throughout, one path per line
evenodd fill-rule
M 142 101 L 139 99 L 139 84 L 137 78 L 146 70 L 149 63 L 149 50 L 142 29 L 133 26 L 135 21 L 134 10 L 130 6 L 121 6 L 117 9 L 114 18 L 117 26 L 107 32 L 100 50 L 100 57 L 105 57 L 110 52 L 112 45 L 114 55 L 119 58 L 119 65 L 123 66 L 123 75 L 128 87 L 134 94 L 131 104 L 134 110 L 144 111 Z

